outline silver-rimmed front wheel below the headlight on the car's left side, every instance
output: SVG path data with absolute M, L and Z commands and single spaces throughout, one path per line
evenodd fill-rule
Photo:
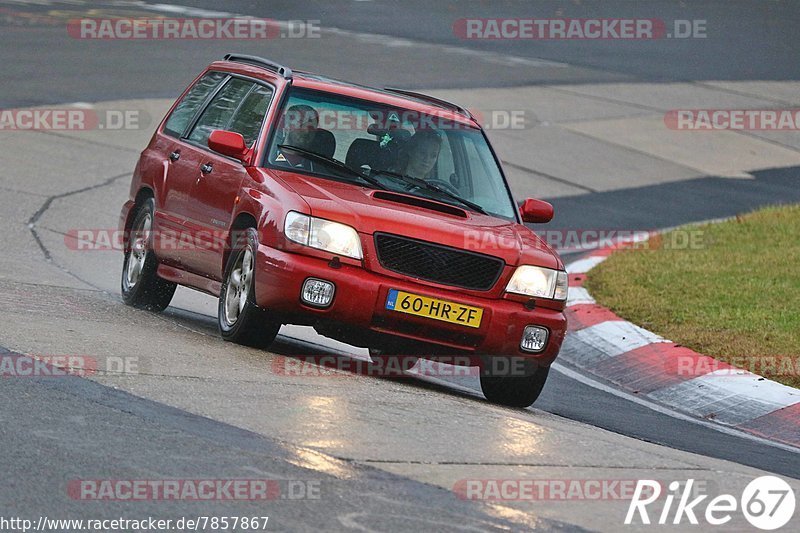
M 281 328 L 280 322 L 256 305 L 255 266 L 258 234 L 246 230 L 244 242 L 234 243 L 219 295 L 217 324 L 226 341 L 267 348 Z

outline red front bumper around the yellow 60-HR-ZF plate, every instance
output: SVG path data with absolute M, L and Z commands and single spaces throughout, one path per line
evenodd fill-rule
M 301 301 L 301 288 L 309 277 L 335 284 L 336 294 L 329 307 L 320 309 Z M 361 330 L 363 334 L 356 340 L 364 342 L 374 336 L 402 337 L 436 346 L 442 352 L 520 356 L 547 366 L 558 355 L 567 329 L 561 311 L 528 309 L 516 301 L 464 295 L 458 290 L 388 277 L 344 262 L 332 266 L 319 257 L 288 253 L 266 245 L 258 249 L 255 281 L 259 306 L 285 323 L 323 324 L 327 326 L 325 331 L 341 331 L 343 335 L 350 331 L 350 336 L 340 340 L 351 344 L 358 344 L 353 342 L 352 331 Z M 390 311 L 385 308 L 390 289 L 480 307 L 484 310 L 481 325 L 469 328 Z M 539 353 L 524 352 L 519 347 L 528 325 L 543 326 L 549 331 L 547 345 Z

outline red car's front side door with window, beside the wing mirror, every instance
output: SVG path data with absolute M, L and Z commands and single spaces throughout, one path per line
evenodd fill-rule
M 227 228 L 247 170 L 241 161 L 213 152 L 208 137 L 214 130 L 242 134 L 252 146 L 263 126 L 274 89 L 249 79 L 232 77 L 214 96 L 189 132 L 194 182 L 187 206 L 192 253 L 181 253 L 186 269 L 211 279 L 222 278 L 222 253 Z

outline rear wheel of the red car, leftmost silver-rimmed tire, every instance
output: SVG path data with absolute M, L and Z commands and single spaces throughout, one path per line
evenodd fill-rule
M 156 203 L 148 198 L 131 224 L 122 262 L 120 289 L 127 305 L 160 312 L 172 301 L 177 285 L 158 277 L 158 259 L 153 251 L 153 217 Z

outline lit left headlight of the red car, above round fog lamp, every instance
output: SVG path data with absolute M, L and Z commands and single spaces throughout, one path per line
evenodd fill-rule
M 361 239 L 350 226 L 290 211 L 283 225 L 286 238 L 336 255 L 361 259 Z

